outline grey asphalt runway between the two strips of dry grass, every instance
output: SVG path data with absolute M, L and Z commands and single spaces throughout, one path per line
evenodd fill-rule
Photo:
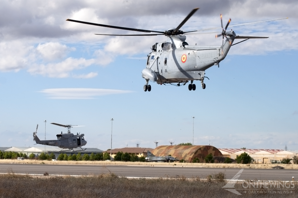
M 50 175 L 99 175 L 114 172 L 125 177 L 200 177 L 225 172 L 227 179 L 232 179 L 240 169 L 236 168 L 185 168 L 185 167 L 151 167 L 151 166 L 102 166 L 102 165 L 60 165 L 60 164 L 0 164 L 1 173 L 29 173 Z M 292 180 L 298 179 L 298 170 L 290 169 L 244 169 L 241 179 L 249 180 Z

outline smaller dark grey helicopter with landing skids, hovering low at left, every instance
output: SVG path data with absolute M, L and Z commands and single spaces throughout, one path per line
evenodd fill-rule
M 57 123 L 51 123 L 58 126 L 62 126 L 67 128 L 67 133 L 57 134 L 57 140 L 39 140 L 37 137 L 37 128 L 36 131 L 33 132 L 33 141 L 36 142 L 36 144 L 42 144 L 42 145 L 48 145 L 48 146 L 58 146 L 59 148 L 62 148 L 61 151 L 74 151 L 74 148 L 80 148 L 82 150 L 79 151 L 85 151 L 85 149 L 82 148 L 82 146 L 85 146 L 87 144 L 87 141 L 84 139 L 84 134 L 78 134 L 74 135 L 70 133 L 70 128 L 72 127 L 79 127 L 77 125 L 63 125 L 63 124 L 57 124 Z M 64 150 L 67 149 L 67 150 Z

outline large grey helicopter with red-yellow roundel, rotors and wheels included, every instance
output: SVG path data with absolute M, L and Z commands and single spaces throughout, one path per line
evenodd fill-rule
M 195 31 L 182 31 L 180 28 L 186 23 L 186 21 L 198 10 L 199 8 L 193 9 L 187 17 L 177 26 L 176 28 L 170 28 L 165 31 L 152 31 L 152 30 L 142 30 L 135 28 L 125 28 L 118 26 L 109 26 L 97 23 L 89 23 L 84 21 L 67 19 L 67 21 L 84 23 L 94 26 L 102 26 L 107 28 L 116 28 L 122 30 L 130 30 L 130 31 L 138 31 L 138 32 L 154 32 L 159 34 L 97 34 L 97 35 L 110 35 L 110 36 L 156 36 L 156 35 L 165 35 L 167 36 L 167 41 L 155 43 L 152 46 L 152 52 L 148 54 L 146 69 L 142 71 L 142 77 L 146 80 L 146 85 L 144 85 L 144 91 L 151 91 L 151 85 L 148 85 L 149 81 L 157 82 L 157 84 L 172 84 L 176 86 L 185 85 L 190 81 L 188 85 L 188 89 L 195 90 L 195 84 L 193 84 L 194 80 L 200 80 L 202 88 L 205 89 L 206 85 L 204 83 L 205 70 L 213 65 L 217 65 L 219 67 L 219 63 L 224 60 L 226 55 L 228 54 L 230 47 L 232 45 L 236 45 L 240 42 L 246 41 L 248 39 L 265 39 L 268 37 L 249 37 L 249 36 L 237 36 L 236 33 L 231 31 L 226 31 L 231 22 L 229 19 L 225 28 L 222 22 L 221 15 L 221 34 L 216 35 L 216 37 L 222 37 L 223 42 L 222 45 L 219 46 L 211 46 L 211 45 L 188 45 L 186 40 L 186 36 L 183 34 L 187 34 L 189 32 L 197 32 L 197 31 L 206 31 L 217 28 L 209 28 L 203 30 L 195 30 Z M 286 19 L 286 18 L 283 18 Z M 281 19 L 274 19 L 281 20 Z M 274 21 L 274 20 L 266 20 L 266 21 Z M 259 21 L 254 23 L 261 23 L 266 21 Z M 241 26 L 253 23 L 244 23 L 233 26 Z M 232 27 L 232 26 L 230 26 Z M 219 27 L 220 28 L 220 27 Z M 215 32 L 211 32 L 215 33 Z M 190 34 L 200 34 L 200 33 L 190 33 Z M 206 33 L 205 33 L 206 34 Z M 224 38 L 226 37 L 226 41 L 224 42 Z M 238 43 L 233 44 L 235 39 L 245 39 Z M 208 78 L 208 77 L 206 77 Z M 209 79 L 209 78 L 208 78 Z M 178 83 L 178 84 L 173 84 Z

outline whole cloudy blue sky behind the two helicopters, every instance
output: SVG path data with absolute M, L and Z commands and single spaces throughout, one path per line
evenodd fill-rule
M 95 34 L 137 32 L 73 23 L 82 20 L 164 31 L 200 9 L 183 31 L 231 27 L 240 36 L 267 36 L 235 45 L 220 67 L 205 71 L 195 91 L 150 83 L 142 69 L 156 42 L 167 37 Z M 83 125 L 86 147 L 155 148 L 181 142 L 217 148 L 298 150 L 297 1 L 8 1 L 0 7 L 1 147 L 34 146 L 32 133 L 56 139 Z M 221 29 L 216 29 L 215 31 Z M 228 28 L 229 30 L 229 28 Z M 214 30 L 212 30 L 214 32 Z M 190 45 L 221 45 L 213 34 L 187 35 Z M 195 118 L 193 119 L 192 116 Z M 194 124 L 194 130 L 193 130 Z M 194 133 L 194 139 L 193 139 Z M 36 146 L 36 145 L 35 145 Z

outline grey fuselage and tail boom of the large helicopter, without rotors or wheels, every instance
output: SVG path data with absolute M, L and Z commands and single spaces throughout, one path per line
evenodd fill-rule
M 188 45 L 185 36 L 169 36 L 153 45 L 142 77 L 158 84 L 204 80 L 205 70 L 219 66 L 226 57 L 236 37 L 234 31 L 230 33 L 222 46 Z

